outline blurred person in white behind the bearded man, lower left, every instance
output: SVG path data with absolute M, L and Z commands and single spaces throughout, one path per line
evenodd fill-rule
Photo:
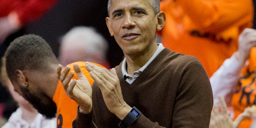
M 4 62 L 4 58 L 2 59 Z M 11 81 L 7 77 L 5 65 L 1 70 L 2 84 L 6 85 L 12 97 L 18 103 L 19 108 L 12 113 L 6 124 L 1 128 L 56 128 L 56 118 L 46 119 L 43 115 L 33 108 L 32 104 L 14 91 Z

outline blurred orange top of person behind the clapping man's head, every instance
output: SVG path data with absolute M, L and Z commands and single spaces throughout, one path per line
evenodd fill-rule
M 161 0 L 160 7 L 166 13 L 157 32 L 163 46 L 197 57 L 209 77 L 237 51 L 243 29 L 252 26 L 251 0 Z

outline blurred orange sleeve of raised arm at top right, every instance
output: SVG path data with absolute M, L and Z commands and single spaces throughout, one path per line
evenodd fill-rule
M 176 0 L 194 24 L 205 31 L 219 32 L 231 25 L 252 24 L 251 0 Z M 245 27 L 244 26 L 244 27 Z

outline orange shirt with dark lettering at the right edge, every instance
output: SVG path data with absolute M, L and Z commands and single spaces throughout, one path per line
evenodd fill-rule
M 236 86 L 236 93 L 232 97 L 232 107 L 234 108 L 234 119 L 243 113 L 248 106 L 256 104 L 256 47 L 251 50 L 249 65 L 243 67 L 241 78 Z M 252 119 L 245 119 L 239 128 L 249 128 Z

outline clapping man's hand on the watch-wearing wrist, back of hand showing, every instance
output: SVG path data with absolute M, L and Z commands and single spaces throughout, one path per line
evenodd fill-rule
M 124 119 L 131 110 L 131 107 L 123 99 L 115 68 L 108 71 L 106 68 L 86 62 L 86 69 L 102 91 L 102 96 L 108 110 L 119 119 Z

